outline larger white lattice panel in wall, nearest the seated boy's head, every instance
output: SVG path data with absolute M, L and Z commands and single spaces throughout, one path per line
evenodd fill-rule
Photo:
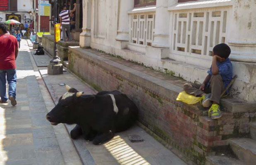
M 171 50 L 176 54 L 212 56 L 213 47 L 227 42 L 229 8 L 193 9 L 173 13 Z

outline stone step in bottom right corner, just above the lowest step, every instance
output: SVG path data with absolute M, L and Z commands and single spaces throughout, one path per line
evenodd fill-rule
M 229 139 L 230 148 L 246 165 L 256 163 L 256 140 L 248 138 Z

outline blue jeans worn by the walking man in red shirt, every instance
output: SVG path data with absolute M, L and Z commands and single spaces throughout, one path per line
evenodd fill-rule
M 0 97 L 2 101 L 7 101 L 6 79 L 9 84 L 9 97 L 16 98 L 17 75 L 16 69 L 0 70 Z

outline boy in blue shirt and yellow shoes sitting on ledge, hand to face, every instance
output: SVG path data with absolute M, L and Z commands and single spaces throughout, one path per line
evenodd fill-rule
M 221 117 L 220 97 L 221 93 L 232 80 L 232 63 L 228 45 L 222 43 L 213 48 L 213 61 L 202 85 L 191 83 L 184 84 L 184 91 L 196 97 L 203 97 L 203 107 L 210 107 L 209 117 L 217 119 Z M 229 92 L 229 89 L 226 93 Z

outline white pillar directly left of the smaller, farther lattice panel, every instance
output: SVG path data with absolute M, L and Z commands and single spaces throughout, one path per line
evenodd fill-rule
M 128 11 L 133 9 L 134 0 L 118 0 L 118 31 L 117 41 L 129 40 L 129 15 Z

